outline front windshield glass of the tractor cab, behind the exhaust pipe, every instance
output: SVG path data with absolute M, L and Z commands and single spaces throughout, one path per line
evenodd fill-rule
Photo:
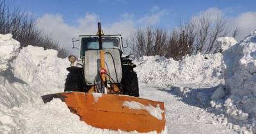
M 120 48 L 119 38 L 102 37 L 102 48 Z M 86 50 L 99 50 L 98 37 L 83 37 L 81 39 L 81 56 L 84 56 Z

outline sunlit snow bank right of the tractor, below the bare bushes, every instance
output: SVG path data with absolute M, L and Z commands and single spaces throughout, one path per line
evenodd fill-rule
M 143 56 L 135 68 L 138 80 L 157 87 L 188 86 L 221 82 L 221 54 L 197 54 L 182 61 L 160 56 Z M 213 85 L 212 85 L 213 84 Z

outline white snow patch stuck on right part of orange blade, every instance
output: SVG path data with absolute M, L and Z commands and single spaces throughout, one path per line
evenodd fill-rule
M 129 107 L 130 109 L 143 109 L 146 110 L 150 115 L 156 117 L 159 120 L 163 119 L 163 112 L 164 110 L 162 110 L 159 105 L 157 105 L 156 107 L 153 107 L 152 105 L 148 104 L 147 105 L 143 105 L 140 102 L 136 102 L 136 101 L 124 101 L 123 106 L 125 107 Z

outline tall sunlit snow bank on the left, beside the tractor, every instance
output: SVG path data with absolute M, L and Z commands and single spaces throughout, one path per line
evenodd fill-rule
M 56 50 L 19 47 L 12 34 L 0 34 L 0 133 L 24 132 L 19 108 L 63 91 L 67 75 L 68 60 L 58 58 Z

